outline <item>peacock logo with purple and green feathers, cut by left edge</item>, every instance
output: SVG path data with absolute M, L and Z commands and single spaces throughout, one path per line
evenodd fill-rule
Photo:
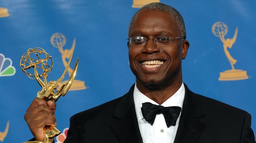
M 0 53 L 0 76 L 12 76 L 15 72 L 11 59 Z

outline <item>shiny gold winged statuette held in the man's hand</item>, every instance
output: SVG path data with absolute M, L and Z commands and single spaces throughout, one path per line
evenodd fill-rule
M 78 66 L 78 58 L 76 60 L 75 68 L 72 71 L 69 80 L 66 82 L 66 84 L 63 84 L 56 93 L 55 93 L 55 89 L 57 89 L 60 82 L 63 80 L 65 74 L 67 73 L 72 55 L 73 53 L 71 54 L 71 57 L 66 66 L 66 69 L 61 75 L 61 77 L 57 81 L 50 81 L 48 83 L 46 78 L 48 76 L 48 73 L 52 70 L 53 60 L 52 60 L 52 57 L 49 54 L 47 54 L 44 49 L 30 48 L 28 49 L 28 52 L 26 52 L 21 57 L 20 59 L 21 70 L 25 72 L 29 78 L 36 79 L 36 81 L 42 87 L 42 90 L 37 92 L 38 98 L 44 99 L 46 101 L 56 102 L 61 95 L 65 96 L 65 94 L 67 93 L 67 91 L 69 90 L 69 88 L 71 87 L 74 81 L 75 74 L 77 71 L 77 66 Z M 44 79 L 44 81 L 42 81 L 41 78 Z M 48 143 L 50 139 L 60 134 L 60 131 L 53 126 L 46 125 L 44 127 L 44 131 L 45 131 L 44 142 L 30 141 L 25 143 Z

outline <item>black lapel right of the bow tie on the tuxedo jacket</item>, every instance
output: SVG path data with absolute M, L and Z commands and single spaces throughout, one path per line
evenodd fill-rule
M 185 86 L 181 119 L 174 143 L 195 143 L 206 127 L 198 118 L 205 116 L 197 95 Z

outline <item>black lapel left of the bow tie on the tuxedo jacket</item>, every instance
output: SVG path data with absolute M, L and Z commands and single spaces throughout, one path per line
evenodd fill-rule
M 114 117 L 120 119 L 111 127 L 121 143 L 143 142 L 135 111 L 133 90 L 134 85 L 131 87 L 129 92 L 122 97 L 113 114 Z

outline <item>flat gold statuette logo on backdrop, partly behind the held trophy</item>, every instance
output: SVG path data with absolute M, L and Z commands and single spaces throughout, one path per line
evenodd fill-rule
M 51 43 L 52 43 L 53 47 L 59 49 L 59 52 L 61 53 L 62 62 L 64 64 L 64 66 L 66 67 L 67 66 L 66 58 L 70 59 L 70 56 L 74 52 L 74 49 L 75 49 L 75 39 L 73 40 L 71 49 L 63 50 L 63 47 L 66 44 L 66 37 L 61 33 L 54 33 L 51 37 Z M 68 74 L 71 75 L 72 71 L 73 70 L 69 67 Z M 66 83 L 66 82 L 67 81 L 63 81 L 63 83 Z M 63 83 L 61 83 L 61 84 L 63 84 Z M 72 86 L 70 87 L 69 90 L 82 90 L 82 89 L 86 89 L 84 81 L 74 80 L 74 83 L 72 84 Z

